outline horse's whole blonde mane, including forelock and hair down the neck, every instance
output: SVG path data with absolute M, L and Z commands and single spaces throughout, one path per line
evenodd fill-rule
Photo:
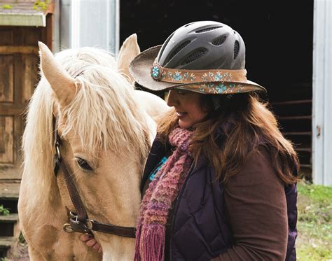
M 55 57 L 78 80 L 74 100 L 60 112 L 62 137 L 74 133 L 92 155 L 107 149 L 125 157 L 136 150 L 134 160 L 143 166 L 148 153 L 147 114 L 118 73 L 114 58 L 95 48 L 65 50 Z M 34 197 L 29 204 L 46 206 L 60 200 L 53 173 L 53 115 L 58 113 L 57 99 L 42 76 L 28 106 L 23 135 L 23 171 L 29 176 L 29 197 Z

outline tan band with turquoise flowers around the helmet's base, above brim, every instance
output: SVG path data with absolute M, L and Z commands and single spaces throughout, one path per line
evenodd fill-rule
M 151 77 L 165 83 L 214 83 L 214 82 L 247 82 L 246 70 L 182 70 L 170 69 L 154 63 Z

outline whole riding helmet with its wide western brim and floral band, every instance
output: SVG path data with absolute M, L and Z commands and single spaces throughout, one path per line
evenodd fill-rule
M 130 64 L 138 85 L 203 94 L 235 94 L 265 88 L 247 80 L 245 46 L 240 34 L 221 22 L 192 22 L 165 43 L 141 52 Z

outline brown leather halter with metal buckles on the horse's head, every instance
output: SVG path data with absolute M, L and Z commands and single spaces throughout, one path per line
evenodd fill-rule
M 69 223 L 64 224 L 65 232 L 80 232 L 80 233 L 91 233 L 93 231 L 115 234 L 120 237 L 135 237 L 136 228 L 135 227 L 120 227 L 113 224 L 103 224 L 95 220 L 88 218 L 88 214 L 85 211 L 82 199 L 78 194 L 78 190 L 74 183 L 72 175 L 69 174 L 69 171 L 64 163 L 64 159 L 60 154 L 61 139 L 57 133 L 57 118 L 53 117 L 53 134 L 54 134 L 54 146 L 55 146 L 55 155 L 54 155 L 54 174 L 57 177 L 59 169 L 64 173 L 64 180 L 66 181 L 67 189 L 76 209 L 76 213 L 69 212 Z

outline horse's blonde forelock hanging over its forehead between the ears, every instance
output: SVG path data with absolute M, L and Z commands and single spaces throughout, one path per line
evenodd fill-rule
M 137 149 L 145 157 L 148 127 L 132 86 L 116 70 L 103 66 L 90 66 L 76 80 L 76 97 L 64 109 L 63 134 L 74 132 L 93 155 L 111 149 L 124 156 Z

